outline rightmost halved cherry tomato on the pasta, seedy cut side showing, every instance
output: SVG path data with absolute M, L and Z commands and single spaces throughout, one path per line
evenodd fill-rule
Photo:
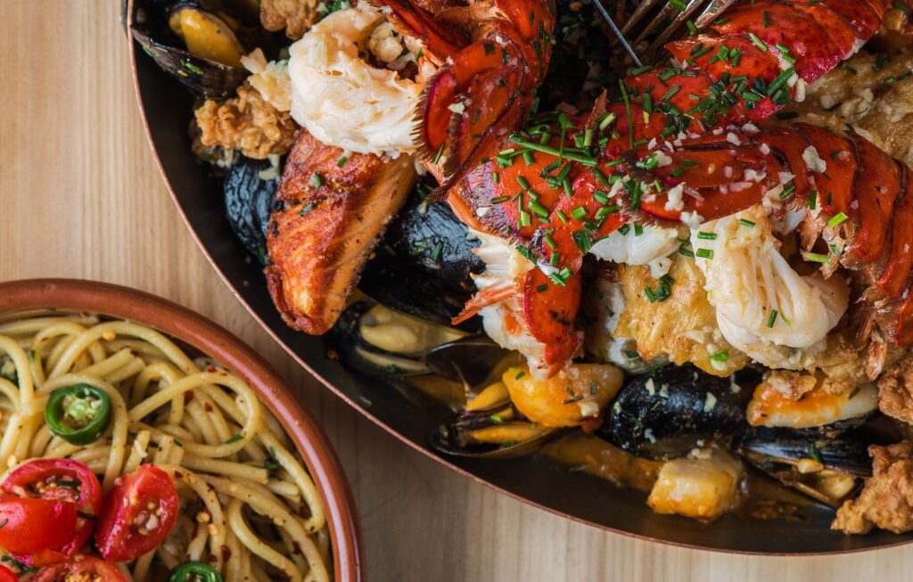
M 177 521 L 178 498 L 171 476 L 158 467 L 140 465 L 121 475 L 105 497 L 95 532 L 101 556 L 125 562 L 163 542 Z

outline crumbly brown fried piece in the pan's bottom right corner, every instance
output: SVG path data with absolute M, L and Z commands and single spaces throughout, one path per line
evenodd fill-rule
M 913 530 L 913 442 L 872 445 L 872 476 L 855 499 L 837 510 L 831 529 L 866 534 L 875 527 L 895 534 Z

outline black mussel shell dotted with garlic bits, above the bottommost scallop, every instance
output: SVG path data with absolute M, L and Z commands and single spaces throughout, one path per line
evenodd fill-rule
M 628 381 L 600 436 L 648 459 L 679 457 L 745 426 L 750 390 L 692 366 L 666 366 Z

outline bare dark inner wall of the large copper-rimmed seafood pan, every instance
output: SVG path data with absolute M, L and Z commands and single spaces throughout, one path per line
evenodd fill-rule
M 712 524 L 654 514 L 645 495 L 614 488 L 596 477 L 530 457 L 509 462 L 445 457 L 428 435 L 448 415 L 418 393 L 390 390 L 327 359 L 321 338 L 282 322 L 252 261 L 225 217 L 220 182 L 197 163 L 187 133 L 194 99 L 131 41 L 134 79 L 143 119 L 165 182 L 210 262 L 251 315 L 279 344 L 352 408 L 438 462 L 501 493 L 574 521 L 666 544 L 749 554 L 808 555 L 855 552 L 908 544 L 913 535 L 845 536 L 830 530 L 833 512 L 814 510 L 809 521 L 749 521 L 733 515 Z

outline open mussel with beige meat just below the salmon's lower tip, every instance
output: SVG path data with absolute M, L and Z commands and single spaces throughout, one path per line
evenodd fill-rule
M 359 301 L 330 332 L 341 359 L 362 373 L 435 373 L 468 386 L 485 381 L 508 355 L 490 339 Z

